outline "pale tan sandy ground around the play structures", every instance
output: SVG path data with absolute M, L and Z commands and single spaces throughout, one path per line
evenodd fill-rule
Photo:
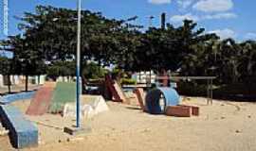
M 27 118 L 39 127 L 40 145 L 25 151 L 255 151 L 256 104 L 192 98 L 183 104 L 200 107 L 200 116 L 177 118 L 150 115 L 137 106 L 108 102 L 110 111 L 84 120 L 92 131 L 82 136 L 64 134 L 72 118 L 46 114 Z M 14 106 L 25 111 L 28 101 Z M 15 150 L 9 138 L 0 138 L 0 151 Z

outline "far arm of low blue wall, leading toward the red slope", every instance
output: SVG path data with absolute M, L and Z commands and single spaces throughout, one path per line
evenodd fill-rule
M 9 104 L 18 100 L 26 100 L 33 97 L 35 92 L 19 92 L 0 97 L 0 104 Z

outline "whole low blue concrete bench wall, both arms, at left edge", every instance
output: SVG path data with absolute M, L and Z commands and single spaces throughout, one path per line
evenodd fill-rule
M 19 109 L 11 106 L 11 103 L 31 99 L 34 94 L 35 92 L 19 92 L 5 95 L 0 99 L 0 122 L 3 125 L 1 129 L 4 129 L 3 132 L 9 132 L 10 143 L 18 149 L 37 146 L 38 129 Z

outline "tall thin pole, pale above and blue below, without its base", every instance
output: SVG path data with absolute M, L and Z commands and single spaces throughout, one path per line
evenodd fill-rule
M 81 59 L 81 1 L 78 0 L 78 33 L 77 33 L 77 127 L 80 128 L 80 59 Z

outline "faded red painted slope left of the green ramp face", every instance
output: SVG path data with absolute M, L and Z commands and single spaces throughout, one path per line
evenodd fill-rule
M 41 87 L 32 98 L 26 114 L 34 116 L 45 114 L 50 106 L 54 88 L 54 82 L 47 82 L 43 87 Z

